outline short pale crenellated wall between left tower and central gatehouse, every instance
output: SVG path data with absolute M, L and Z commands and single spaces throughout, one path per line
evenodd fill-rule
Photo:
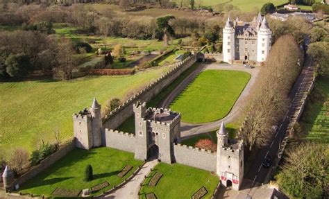
M 105 130 L 105 143 L 107 147 L 117 148 L 135 153 L 135 135 L 117 130 Z

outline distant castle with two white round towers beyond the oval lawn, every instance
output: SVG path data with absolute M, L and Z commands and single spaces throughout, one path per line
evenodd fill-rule
M 264 62 L 271 50 L 272 31 L 267 19 L 258 14 L 250 23 L 226 21 L 223 28 L 223 61 L 233 63 L 242 60 L 244 63 Z

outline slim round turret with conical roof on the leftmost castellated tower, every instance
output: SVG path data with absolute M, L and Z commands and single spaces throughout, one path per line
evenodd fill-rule
M 103 130 L 103 124 L 101 121 L 101 105 L 96 101 L 92 101 L 90 107 L 90 114 L 92 115 L 92 146 L 101 146 L 101 131 Z

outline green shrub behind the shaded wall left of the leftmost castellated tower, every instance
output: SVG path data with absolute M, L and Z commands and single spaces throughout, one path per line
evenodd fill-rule
M 56 150 L 58 150 L 57 144 L 42 143 L 40 148 L 38 148 L 37 150 L 33 150 L 31 158 L 30 158 L 31 165 L 35 166 L 35 165 L 39 164 L 42 161 L 42 159 L 44 159 L 44 158 L 48 157 L 49 155 L 51 155 L 52 153 L 56 152 Z

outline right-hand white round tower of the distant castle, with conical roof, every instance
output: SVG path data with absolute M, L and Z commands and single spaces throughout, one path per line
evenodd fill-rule
M 262 24 L 258 30 L 258 41 L 257 41 L 257 61 L 264 62 L 269 55 L 269 50 L 271 49 L 271 38 L 272 31 L 267 24 L 266 17 L 262 20 Z

